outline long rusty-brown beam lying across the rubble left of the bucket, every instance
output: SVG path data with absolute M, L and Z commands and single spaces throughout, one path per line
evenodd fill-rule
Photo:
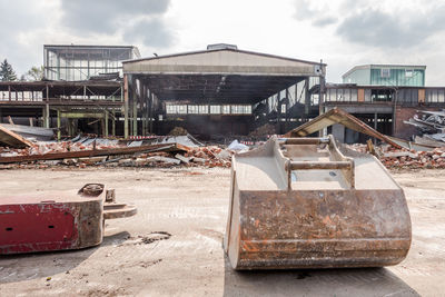
M 147 145 L 140 147 L 90 149 L 80 151 L 48 152 L 42 155 L 30 155 L 30 156 L 0 157 L 0 164 L 27 162 L 27 161 L 39 161 L 39 160 L 60 160 L 60 159 L 86 158 L 86 157 L 97 157 L 97 156 L 131 155 L 145 151 L 185 152 L 189 150 L 190 150 L 189 147 L 179 143 L 160 143 L 160 145 Z

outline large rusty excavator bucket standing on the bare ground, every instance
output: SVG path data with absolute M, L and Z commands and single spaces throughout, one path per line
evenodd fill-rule
M 329 136 L 273 137 L 234 156 L 224 238 L 234 269 L 382 267 L 406 257 L 402 188 L 374 156 L 345 155 Z

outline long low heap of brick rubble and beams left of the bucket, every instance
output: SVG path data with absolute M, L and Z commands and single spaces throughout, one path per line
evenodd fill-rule
M 174 137 L 180 140 L 180 137 Z M 185 137 L 182 137 L 185 138 Z M 186 136 L 187 138 L 187 136 Z M 165 140 L 165 139 L 164 139 Z M 61 142 L 34 142 L 27 148 L 0 147 L 2 168 L 48 168 L 51 166 L 107 167 L 230 167 L 233 152 L 216 146 L 194 147 L 180 141 L 118 141 L 79 138 Z

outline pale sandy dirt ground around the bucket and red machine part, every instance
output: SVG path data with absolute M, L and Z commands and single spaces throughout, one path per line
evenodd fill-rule
M 413 244 L 400 265 L 235 273 L 221 240 L 229 169 L 2 170 L 0 194 L 102 182 L 138 215 L 109 220 L 99 247 L 0 257 L 0 296 L 444 296 L 445 170 L 393 172 Z

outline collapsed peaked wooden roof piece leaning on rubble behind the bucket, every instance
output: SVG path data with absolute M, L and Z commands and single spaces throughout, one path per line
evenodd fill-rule
M 362 120 L 339 108 L 334 108 L 326 113 L 316 117 L 312 121 L 305 122 L 304 125 L 287 132 L 285 137 L 305 137 L 334 123 L 340 123 L 348 129 L 380 139 L 382 141 L 392 145 L 395 148 L 402 148 L 399 143 L 395 142 L 388 136 L 378 132 Z

